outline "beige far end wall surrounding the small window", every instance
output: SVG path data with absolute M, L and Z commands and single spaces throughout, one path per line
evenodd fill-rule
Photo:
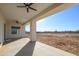
M 11 33 L 11 26 L 19 26 L 20 29 L 17 34 L 12 34 Z M 7 21 L 6 22 L 6 39 L 10 38 L 21 38 L 25 37 L 25 31 L 24 31 L 24 26 L 21 24 L 17 24 L 15 21 Z

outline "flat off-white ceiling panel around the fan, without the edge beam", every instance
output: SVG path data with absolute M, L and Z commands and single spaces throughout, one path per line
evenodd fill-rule
M 0 11 L 7 20 L 18 20 L 23 23 L 38 13 L 42 12 L 46 8 L 52 5 L 52 3 L 35 3 L 31 7 L 37 9 L 37 11 L 30 10 L 27 13 L 25 8 L 18 8 L 16 6 L 23 5 L 22 3 L 2 3 L 0 4 Z

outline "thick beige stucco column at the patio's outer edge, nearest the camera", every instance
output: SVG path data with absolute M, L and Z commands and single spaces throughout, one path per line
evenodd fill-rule
M 30 24 L 30 39 L 36 41 L 36 20 L 32 20 Z

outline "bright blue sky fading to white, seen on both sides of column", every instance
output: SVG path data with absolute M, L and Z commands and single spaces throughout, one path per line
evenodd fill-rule
M 37 31 L 76 31 L 79 30 L 79 5 L 68 8 L 36 23 Z M 30 25 L 25 27 L 29 31 Z

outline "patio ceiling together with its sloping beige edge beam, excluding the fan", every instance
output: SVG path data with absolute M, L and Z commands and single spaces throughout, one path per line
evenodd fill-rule
M 0 11 L 6 20 L 17 20 L 21 24 L 26 24 L 29 20 L 39 20 L 49 15 L 60 12 L 66 8 L 74 6 L 74 3 L 34 3 L 31 7 L 37 11 L 26 8 L 18 8 L 23 3 L 0 3 Z

